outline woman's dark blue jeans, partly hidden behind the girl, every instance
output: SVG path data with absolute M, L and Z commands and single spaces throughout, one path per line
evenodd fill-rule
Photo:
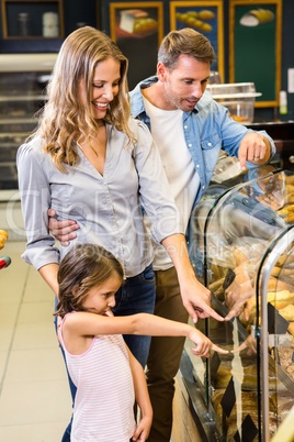
M 112 309 L 114 316 L 125 317 L 128 314 L 136 313 L 154 313 L 155 308 L 155 277 L 152 265 L 150 264 L 145 268 L 143 273 L 132 278 L 127 278 L 125 284 L 115 294 L 115 307 Z M 57 318 L 55 319 L 55 327 L 57 324 Z M 150 336 L 142 336 L 134 334 L 125 334 L 124 340 L 129 347 L 133 355 L 142 364 L 143 368 L 147 363 L 147 357 L 150 346 Z M 63 356 L 65 358 L 65 353 L 59 344 Z M 65 358 L 66 361 L 66 358 Z M 70 393 L 72 397 L 72 406 L 75 402 L 75 397 L 77 393 L 77 387 L 72 383 L 69 373 L 67 372 Z M 72 421 L 72 418 L 71 418 Z M 71 421 L 68 424 L 61 442 L 70 442 L 70 430 Z

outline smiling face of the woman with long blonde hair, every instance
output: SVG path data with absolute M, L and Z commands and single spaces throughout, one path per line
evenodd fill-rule
M 98 63 L 91 85 L 91 108 L 94 119 L 103 119 L 110 102 L 118 93 L 121 64 L 114 58 Z M 80 98 L 86 102 L 84 82 L 80 82 Z

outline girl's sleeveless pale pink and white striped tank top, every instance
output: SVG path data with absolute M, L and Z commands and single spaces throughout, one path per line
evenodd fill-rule
M 84 353 L 72 355 L 63 339 L 66 317 L 58 338 L 77 387 L 70 441 L 129 442 L 136 428 L 135 393 L 123 336 L 97 335 Z

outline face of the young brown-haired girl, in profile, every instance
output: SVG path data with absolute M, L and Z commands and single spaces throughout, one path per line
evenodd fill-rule
M 92 287 L 82 302 L 88 311 L 108 316 L 108 311 L 115 306 L 114 295 L 122 285 L 122 279 L 114 274 L 100 286 Z

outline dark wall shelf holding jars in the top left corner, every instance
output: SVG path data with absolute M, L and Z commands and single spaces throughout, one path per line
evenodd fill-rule
M 4 40 L 64 38 L 63 0 L 1 0 L 1 10 Z M 30 14 L 32 35 L 20 35 L 18 32 L 18 15 L 21 12 Z M 59 34 L 57 36 L 43 36 L 42 15 L 44 12 L 58 13 Z

